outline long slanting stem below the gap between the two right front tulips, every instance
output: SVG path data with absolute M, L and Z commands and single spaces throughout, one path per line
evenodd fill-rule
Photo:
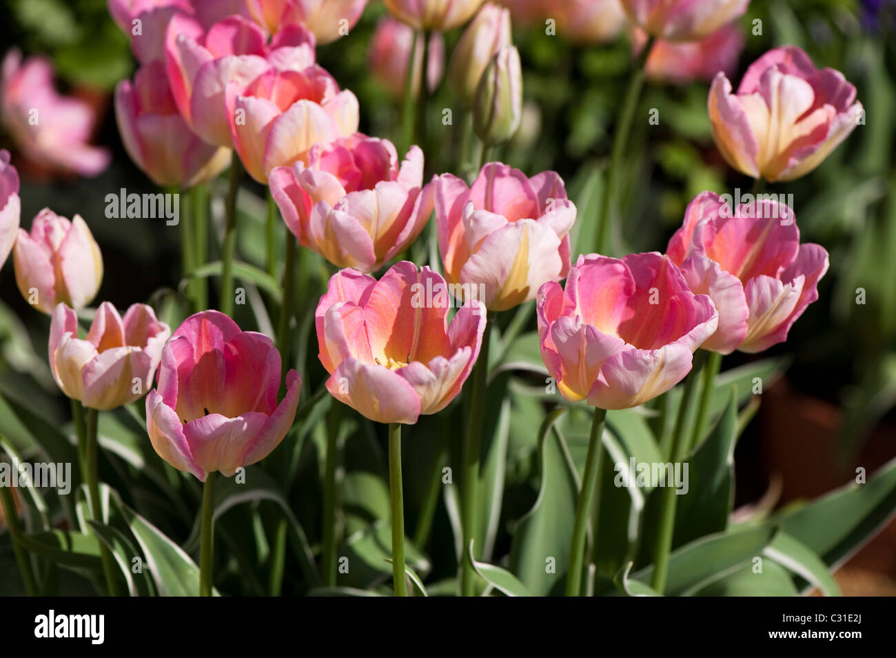
M 702 361 L 702 351 L 694 355 L 694 361 Z M 681 397 L 681 406 L 678 407 L 675 431 L 672 434 L 672 450 L 669 461 L 673 466 L 680 463 L 687 453 L 688 441 L 685 437 L 687 428 L 691 427 L 694 416 L 694 389 L 700 377 L 700 366 L 694 363 L 694 368 L 685 377 L 685 390 Z M 653 589 L 663 593 L 666 589 L 666 577 L 668 576 L 669 552 L 672 550 L 672 539 L 675 533 L 675 512 L 678 497 L 675 487 L 665 487 L 659 492 L 659 528 L 657 530 L 656 545 L 653 550 Z

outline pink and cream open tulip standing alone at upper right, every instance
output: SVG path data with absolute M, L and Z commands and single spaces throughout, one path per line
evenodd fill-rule
M 728 164 L 754 178 L 787 181 L 820 165 L 864 117 L 856 88 L 819 71 L 795 46 L 775 48 L 746 70 L 737 94 L 712 81 L 712 135 Z

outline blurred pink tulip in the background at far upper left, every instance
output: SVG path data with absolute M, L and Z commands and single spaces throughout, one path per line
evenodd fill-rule
M 13 48 L 0 78 L 0 117 L 27 160 L 90 177 L 108 167 L 108 150 L 87 143 L 96 112 L 83 100 L 56 92 L 49 60 L 30 56 L 22 62 L 22 52 Z

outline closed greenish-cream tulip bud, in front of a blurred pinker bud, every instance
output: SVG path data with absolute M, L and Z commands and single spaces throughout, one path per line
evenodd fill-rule
M 513 137 L 522 118 L 522 67 L 515 46 L 501 48 L 479 80 L 473 100 L 473 128 L 487 146 Z

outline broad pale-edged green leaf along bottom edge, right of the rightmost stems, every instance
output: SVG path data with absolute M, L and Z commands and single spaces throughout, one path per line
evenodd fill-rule
M 689 596 L 723 572 L 749 564 L 765 550 L 778 532 L 778 528 L 771 526 L 737 529 L 702 537 L 682 546 L 669 557 L 665 594 Z M 653 566 L 650 565 L 633 577 L 650 583 L 652 576 Z

